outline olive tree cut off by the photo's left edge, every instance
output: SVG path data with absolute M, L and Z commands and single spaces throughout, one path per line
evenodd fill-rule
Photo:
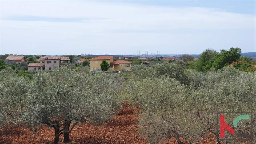
M 11 68 L 0 70 L 0 125 L 16 124 L 26 107 L 31 85 Z

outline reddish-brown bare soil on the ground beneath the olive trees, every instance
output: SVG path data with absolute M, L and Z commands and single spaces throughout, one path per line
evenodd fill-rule
M 139 109 L 133 109 L 124 105 L 118 115 L 103 126 L 95 129 L 90 123 L 80 124 L 70 133 L 70 142 L 74 144 L 144 144 L 147 142 L 137 132 L 135 112 Z M 0 129 L 0 143 L 2 144 L 51 144 L 54 141 L 53 129 L 38 129 L 39 133 L 31 134 L 31 131 L 24 127 L 4 127 Z M 63 142 L 63 134 L 59 143 Z M 202 143 L 216 143 L 213 135 L 208 135 Z M 174 138 L 166 139 L 166 144 L 177 144 Z

